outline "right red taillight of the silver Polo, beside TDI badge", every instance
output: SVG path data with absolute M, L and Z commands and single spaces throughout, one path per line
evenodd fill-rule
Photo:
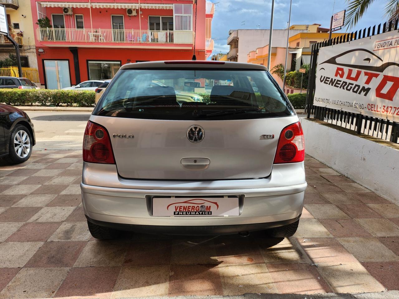
M 274 164 L 302 162 L 305 159 L 305 138 L 299 122 L 285 127 L 279 138 Z

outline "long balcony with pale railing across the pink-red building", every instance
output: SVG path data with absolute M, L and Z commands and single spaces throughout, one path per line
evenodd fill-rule
M 37 39 L 57 43 L 192 44 L 193 31 L 38 28 Z

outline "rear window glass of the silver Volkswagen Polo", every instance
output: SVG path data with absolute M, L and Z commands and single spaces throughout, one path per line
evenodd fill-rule
M 94 115 L 162 120 L 227 120 L 294 114 L 262 70 L 124 69 Z

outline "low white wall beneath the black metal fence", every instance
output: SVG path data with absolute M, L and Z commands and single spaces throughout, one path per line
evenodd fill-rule
M 305 152 L 399 204 L 399 149 L 301 118 Z

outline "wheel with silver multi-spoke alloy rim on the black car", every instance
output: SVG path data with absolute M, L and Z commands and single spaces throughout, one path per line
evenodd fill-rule
M 19 164 L 27 161 L 32 154 L 32 134 L 26 126 L 17 124 L 8 140 L 8 161 Z

